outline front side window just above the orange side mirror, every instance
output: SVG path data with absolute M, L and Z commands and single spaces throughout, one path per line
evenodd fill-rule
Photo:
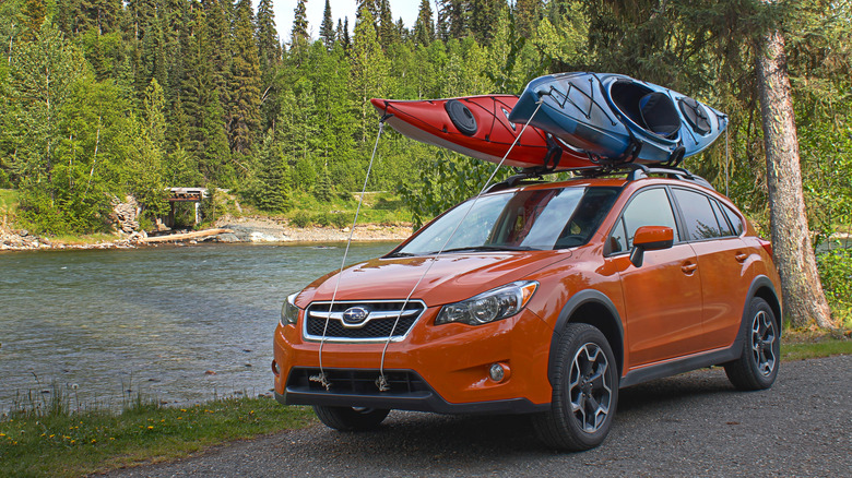
M 636 229 L 642 226 L 671 227 L 674 230 L 675 242 L 681 240 L 674 214 L 672 213 L 672 204 L 668 202 L 668 194 L 665 193 L 665 189 L 649 189 L 640 191 L 634 196 L 610 236 L 612 251 L 623 252 L 629 250 L 634 246 Z

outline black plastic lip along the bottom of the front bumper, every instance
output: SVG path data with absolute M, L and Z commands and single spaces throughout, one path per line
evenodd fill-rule
M 395 370 L 400 371 L 400 370 Z M 405 370 L 414 373 L 413 371 Z M 377 371 L 378 377 L 378 371 Z M 419 377 L 419 375 L 418 375 Z M 421 379 L 422 380 L 422 379 Z M 426 383 L 425 381 L 423 383 Z M 433 411 L 437 414 L 534 414 L 546 411 L 551 404 L 536 405 L 526 398 L 472 402 L 452 404 L 445 401 L 428 384 L 427 391 L 404 394 L 352 394 L 331 391 L 294 389 L 287 386 L 284 394 L 275 392 L 275 399 L 282 405 L 326 405 L 332 407 L 365 407 L 397 410 Z

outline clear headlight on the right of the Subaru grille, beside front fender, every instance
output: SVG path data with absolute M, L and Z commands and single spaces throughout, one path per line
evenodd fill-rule
M 539 283 L 524 280 L 488 290 L 461 302 L 449 303 L 441 308 L 435 325 L 460 322 L 469 325 L 482 325 L 512 316 L 526 307 Z

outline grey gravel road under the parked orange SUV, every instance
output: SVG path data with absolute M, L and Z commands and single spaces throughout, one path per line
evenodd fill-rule
M 380 431 L 317 425 L 111 477 L 852 476 L 852 356 L 782 363 L 769 391 L 722 369 L 622 391 L 602 446 L 558 453 L 523 417 L 393 411 Z

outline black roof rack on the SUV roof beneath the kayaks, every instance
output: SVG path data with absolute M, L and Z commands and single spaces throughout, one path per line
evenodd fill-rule
M 691 181 L 696 184 L 703 186 L 705 188 L 709 188 L 712 190 L 715 190 L 710 182 L 697 175 L 694 175 L 687 169 L 675 167 L 675 166 L 649 166 L 649 165 L 640 165 L 636 163 L 623 163 L 618 165 L 607 165 L 607 166 L 594 166 L 594 167 L 588 167 L 588 168 L 578 168 L 578 169 L 564 169 L 564 170 L 553 170 L 549 168 L 528 168 L 521 170 L 519 174 L 510 176 L 508 179 L 497 182 L 488 190 L 488 192 L 495 192 L 500 191 L 504 189 L 511 189 L 518 186 L 523 184 L 535 184 L 544 182 L 544 176 L 545 175 L 553 175 L 557 172 L 571 172 L 573 175 L 577 175 L 581 178 L 600 178 L 603 176 L 615 176 L 615 175 L 623 175 L 627 174 L 627 180 L 628 181 L 636 181 L 638 179 L 644 179 L 650 178 L 651 176 L 662 176 L 668 179 L 681 179 L 684 181 Z

